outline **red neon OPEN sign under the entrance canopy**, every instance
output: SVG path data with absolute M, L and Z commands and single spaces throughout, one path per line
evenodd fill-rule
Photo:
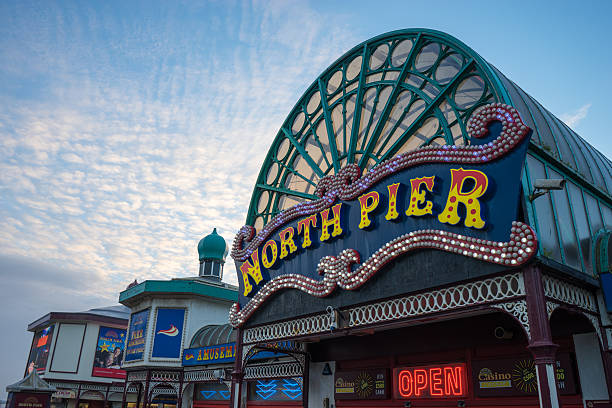
M 448 398 L 467 395 L 465 364 L 441 364 L 393 370 L 395 398 Z

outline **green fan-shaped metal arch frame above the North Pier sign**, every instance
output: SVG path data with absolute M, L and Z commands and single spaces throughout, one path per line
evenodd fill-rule
M 406 56 L 403 65 L 394 66 L 392 64 L 392 53 L 403 40 L 407 39 L 413 40 L 409 55 Z M 373 69 L 368 63 L 374 52 L 377 51 L 377 47 L 383 44 L 387 44 L 388 47 L 386 58 L 382 62 L 382 68 Z M 416 58 L 430 44 L 440 45 L 438 56 L 432 62 L 430 68 L 418 71 L 416 70 Z M 435 48 L 435 46 L 430 48 Z M 462 65 L 459 72 L 449 82 L 442 84 L 437 81 L 435 75 L 444 58 L 451 54 L 463 58 Z M 359 55 L 361 55 L 361 67 L 358 76 L 348 80 L 349 64 L 357 60 Z M 328 93 L 330 89 L 328 81 L 340 71 L 342 72 L 341 87 Z M 374 78 L 375 75 L 379 74 L 381 74 L 380 78 Z M 429 29 L 398 30 L 373 37 L 353 47 L 319 75 L 285 119 L 260 169 L 251 197 L 246 223 L 260 229 L 282 209 L 303 200 L 316 198 L 314 195 L 316 182 L 324 175 L 338 172 L 342 166 L 349 162 L 358 163 L 361 168 L 367 169 L 376 165 L 377 162 L 397 154 L 400 149 L 404 148 L 405 145 L 407 146 L 407 142 L 413 138 L 426 121 L 437 121 L 438 130 L 429 139 L 424 140 L 422 144 L 469 143 L 467 139 L 457 141 L 457 138 L 453 138 L 450 126 L 448 126 L 449 123 L 445 120 L 447 114 L 450 116 L 450 111 L 443 112 L 440 107 L 445 103 L 447 104 L 445 106 L 451 106 L 456 114 L 456 121 L 452 123 L 459 127 L 465 139 L 467 136 L 465 122 L 469 115 L 466 114 L 462 119 L 457 113 L 461 113 L 463 110 L 458 109 L 455 106 L 456 104 L 453 105 L 453 103 L 459 85 L 470 76 L 479 76 L 482 79 L 484 83 L 483 94 L 466 111 L 471 112 L 484 103 L 503 102 L 512 104 L 510 95 L 496 70 L 470 47 L 446 33 Z M 390 79 L 387 80 L 387 78 Z M 414 83 L 405 82 L 407 79 L 414 81 Z M 474 81 L 477 82 L 477 80 Z M 418 85 L 419 83 L 421 85 Z M 390 92 L 390 95 L 385 100 L 384 107 L 382 107 L 382 104 L 377 106 L 381 103 L 381 99 L 385 97 L 385 95 L 381 95 L 385 88 L 389 89 L 385 92 Z M 411 92 L 410 98 L 412 99 L 404 109 L 405 113 L 400 114 L 401 116 L 396 120 L 394 124 L 396 131 L 403 124 L 403 122 L 400 123 L 400 120 L 410 114 L 411 104 L 423 101 L 426 105 L 423 108 L 424 112 L 421 112 L 414 122 L 410 123 L 410 127 L 403 131 L 404 134 L 394 141 L 394 145 L 389 147 L 386 153 L 377 154 L 374 150 L 379 142 L 378 138 L 385 131 L 385 126 L 391 126 L 390 115 L 393 108 L 398 105 L 398 96 L 404 91 Z M 428 95 L 428 91 L 430 95 Z M 436 92 L 437 94 L 435 94 Z M 374 94 L 375 96 L 374 99 L 367 100 L 364 103 L 366 93 L 368 93 L 367 96 Z M 318 104 L 315 103 L 317 94 L 321 96 L 321 101 Z M 308 107 L 313 95 L 315 99 L 310 104 L 312 109 L 312 112 L 310 112 Z M 328 96 L 331 97 L 328 98 Z M 350 104 L 353 96 L 355 108 L 353 110 L 354 115 L 350 118 L 353 122 L 351 123 L 351 135 L 347 146 L 348 120 L 346 112 L 347 104 Z M 361 116 L 367 111 L 368 103 L 372 104 L 370 117 L 380 113 L 376 119 L 378 122 L 373 125 L 373 120 L 368 118 L 367 129 L 360 128 L 360 126 L 363 126 L 361 120 L 364 119 Z M 342 104 L 341 109 L 339 109 L 340 104 Z M 317 106 L 312 108 L 314 105 Z M 338 112 L 342 112 L 343 115 L 343 139 L 339 140 L 335 131 L 338 126 Z M 305 123 L 295 133 L 292 127 L 294 120 L 300 115 L 304 115 Z M 356 119 L 357 117 L 359 119 Z M 352 127 L 355 124 L 357 124 L 357 129 Z M 363 130 L 368 132 L 365 137 L 363 139 L 356 137 L 356 134 Z M 387 138 L 392 136 L 388 133 L 386 135 Z M 363 143 L 363 145 L 357 145 L 358 142 Z M 383 149 L 387 148 L 385 145 L 387 142 L 389 142 L 388 139 L 382 140 Z M 317 149 L 321 151 L 318 156 L 313 154 L 318 152 Z M 381 150 L 378 152 L 380 153 Z M 279 158 L 279 156 L 281 157 Z

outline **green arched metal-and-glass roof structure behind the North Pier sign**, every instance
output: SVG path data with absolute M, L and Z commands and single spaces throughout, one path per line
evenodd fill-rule
M 544 245 L 544 256 L 590 273 L 586 256 L 572 261 L 570 252 L 576 251 L 571 245 L 584 242 L 582 224 L 591 234 L 599 227 L 592 218 L 600 211 L 601 224 L 612 224 L 612 163 L 468 46 L 433 30 L 374 37 L 344 54 L 312 83 L 268 151 L 246 223 L 260 230 L 280 211 L 316 198 L 318 181 L 348 163 L 367 171 L 423 145 L 469 144 L 468 118 L 479 106 L 494 102 L 514 106 L 533 129 L 530 163 L 537 159 L 552 166 L 544 177 L 560 174 L 572 181 L 568 190 L 581 190 L 585 196 L 555 196 L 558 205 L 551 201 L 545 209 L 528 203 L 527 217 L 536 229 L 549 231 L 552 222 L 552 229 L 559 231 L 548 239 L 559 249 Z M 534 178 L 537 170 L 528 168 L 527 173 Z M 530 177 L 524 180 L 527 193 Z M 572 231 L 557 225 L 556 220 L 565 217 L 564 200 L 583 208 L 587 198 L 597 207 L 595 216 L 587 211 L 588 226 L 583 220 L 573 222 Z M 544 199 L 536 202 L 540 207 L 542 203 Z M 542 218 L 548 213 L 550 220 Z

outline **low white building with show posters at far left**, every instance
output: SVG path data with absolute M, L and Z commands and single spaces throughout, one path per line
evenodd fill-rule
M 36 371 L 56 391 L 55 408 L 121 406 L 121 370 L 129 309 L 117 305 L 84 312 L 51 312 L 31 323 L 25 374 Z M 127 400 L 132 400 L 129 390 Z

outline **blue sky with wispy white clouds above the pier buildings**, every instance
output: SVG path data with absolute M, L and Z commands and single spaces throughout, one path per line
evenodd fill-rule
M 215 227 L 231 245 L 286 115 L 373 36 L 457 37 L 612 157 L 610 15 L 609 1 L 0 2 L 0 398 L 28 323 L 197 275 Z

